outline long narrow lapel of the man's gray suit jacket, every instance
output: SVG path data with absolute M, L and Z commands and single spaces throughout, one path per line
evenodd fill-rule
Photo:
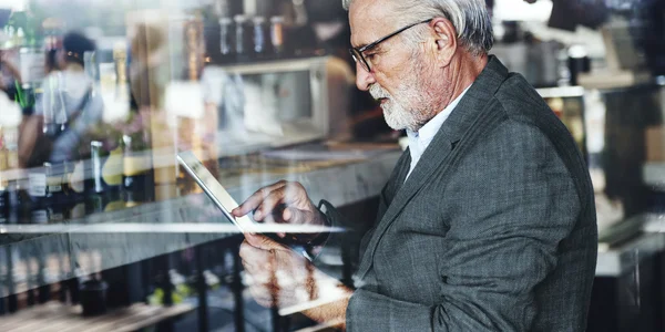
M 460 149 L 458 143 L 461 143 L 466 138 L 466 134 L 477 126 L 478 122 L 482 122 L 481 117 L 485 113 L 483 111 L 488 108 L 494 93 L 499 90 L 501 83 L 505 81 L 507 76 L 508 70 L 505 66 L 497 58 L 490 56 L 488 65 L 462 97 L 450 117 L 443 123 L 441 129 L 424 151 L 411 176 L 401 187 L 399 187 L 400 184 L 397 184 L 397 188 L 399 189 L 379 221 L 377 230 L 362 256 L 360 267 L 358 268 L 358 277 L 360 279 L 365 278 L 369 271 L 376 248 L 386 230 L 395 222 L 407 204 L 428 183 L 432 175 L 438 169 L 441 173 L 448 168 L 450 158 L 457 155 L 458 149 Z M 406 170 L 402 169 L 400 173 L 400 180 L 402 183 L 409 168 L 410 165 L 407 165 Z

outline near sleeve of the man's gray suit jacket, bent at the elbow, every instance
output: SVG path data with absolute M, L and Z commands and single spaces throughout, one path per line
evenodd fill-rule
M 432 248 L 440 301 L 423 305 L 359 289 L 347 308 L 348 331 L 531 329 L 536 289 L 581 211 L 566 166 L 540 129 L 507 121 L 447 178 L 443 208 L 432 209 L 449 227 L 444 245 Z

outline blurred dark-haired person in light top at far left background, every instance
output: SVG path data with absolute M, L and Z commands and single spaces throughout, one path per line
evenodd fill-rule
M 95 43 L 82 33 L 64 35 L 55 55 L 57 68 L 44 79 L 34 115 L 23 122 L 19 147 L 23 167 L 84 157 L 81 139 L 101 122 L 104 111 L 84 68 L 84 54 L 94 51 Z

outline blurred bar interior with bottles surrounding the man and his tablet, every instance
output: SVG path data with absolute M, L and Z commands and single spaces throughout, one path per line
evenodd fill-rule
M 587 330 L 663 331 L 665 1 L 487 2 L 491 53 L 592 175 Z M 286 178 L 340 207 L 317 267 L 354 287 L 405 135 L 357 90 L 349 39 L 338 0 L 0 0 L 0 330 L 330 330 L 301 314 L 317 299 L 252 299 L 242 235 L 175 154 L 238 201 Z

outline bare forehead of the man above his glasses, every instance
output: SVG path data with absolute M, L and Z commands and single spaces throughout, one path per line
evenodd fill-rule
M 356 0 L 349 8 L 351 44 L 360 48 L 395 30 L 391 1 Z

